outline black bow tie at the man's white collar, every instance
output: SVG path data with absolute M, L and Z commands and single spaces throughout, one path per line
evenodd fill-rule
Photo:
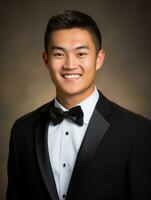
M 53 125 L 57 125 L 63 121 L 63 119 L 71 119 L 76 124 L 83 125 L 83 111 L 80 106 L 71 108 L 69 111 L 63 111 L 60 108 L 50 107 L 50 120 Z

